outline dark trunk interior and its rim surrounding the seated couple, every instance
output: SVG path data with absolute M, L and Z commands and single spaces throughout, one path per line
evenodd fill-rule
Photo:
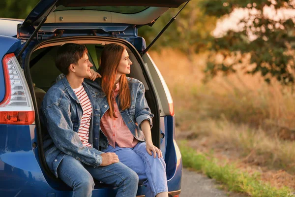
M 126 46 L 129 53 L 129 58 L 133 62 L 131 66 L 131 73 L 129 77 L 136 78 L 143 82 L 146 88 L 146 99 L 151 112 L 155 115 L 153 118 L 152 140 L 153 143 L 160 147 L 160 114 L 158 108 L 158 101 L 155 96 L 155 91 L 151 85 L 147 70 L 141 59 L 139 53 L 136 49 L 127 41 L 117 38 L 103 38 L 94 36 L 80 36 L 80 37 L 67 37 L 67 38 L 57 38 L 48 41 L 41 42 L 33 47 L 25 62 L 25 74 L 29 84 L 30 92 L 34 93 L 32 95 L 35 110 L 35 124 L 36 132 L 38 137 L 38 153 L 40 163 L 42 168 L 47 172 L 45 177 L 52 183 L 51 187 L 61 190 L 61 188 L 66 187 L 61 181 L 50 181 L 50 179 L 55 179 L 54 175 L 49 171 L 49 168 L 45 162 L 42 136 L 44 131 L 40 125 L 38 110 L 42 99 L 48 89 L 55 84 L 56 78 L 60 74 L 60 71 L 55 66 L 55 56 L 57 53 L 57 48 L 64 43 L 79 43 L 85 44 L 88 48 L 89 61 L 93 64 L 93 69 L 96 70 L 99 67 L 100 55 L 103 47 L 109 43 L 120 43 Z M 102 187 L 101 184 L 96 184 L 96 189 Z

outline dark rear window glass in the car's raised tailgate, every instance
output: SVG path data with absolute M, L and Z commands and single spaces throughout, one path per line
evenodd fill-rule
M 54 11 L 61 10 L 100 10 L 100 11 L 109 11 L 109 12 L 118 12 L 122 14 L 134 14 L 141 12 L 147 9 L 148 6 L 83 6 L 83 7 L 65 7 L 59 5 Z

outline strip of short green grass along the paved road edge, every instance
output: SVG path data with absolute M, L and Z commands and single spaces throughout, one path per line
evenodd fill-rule
M 194 149 L 186 146 L 185 141 L 179 144 L 185 167 L 203 172 L 209 178 L 224 184 L 229 191 L 244 193 L 251 197 L 295 197 L 287 187 L 277 189 L 260 181 L 259 174 L 249 175 L 241 172 L 235 165 L 220 165 L 212 156 L 197 154 Z

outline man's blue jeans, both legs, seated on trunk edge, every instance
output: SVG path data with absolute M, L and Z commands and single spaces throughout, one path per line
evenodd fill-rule
M 58 174 L 63 182 L 73 188 L 73 197 L 91 197 L 93 178 L 118 187 L 116 197 L 136 197 L 138 189 L 138 175 L 120 162 L 94 168 L 65 155 L 59 164 Z

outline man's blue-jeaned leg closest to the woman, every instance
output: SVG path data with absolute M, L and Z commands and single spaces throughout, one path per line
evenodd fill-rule
M 115 163 L 107 166 L 84 165 L 92 177 L 118 187 L 116 197 L 136 197 L 138 189 L 138 175 L 122 163 Z

